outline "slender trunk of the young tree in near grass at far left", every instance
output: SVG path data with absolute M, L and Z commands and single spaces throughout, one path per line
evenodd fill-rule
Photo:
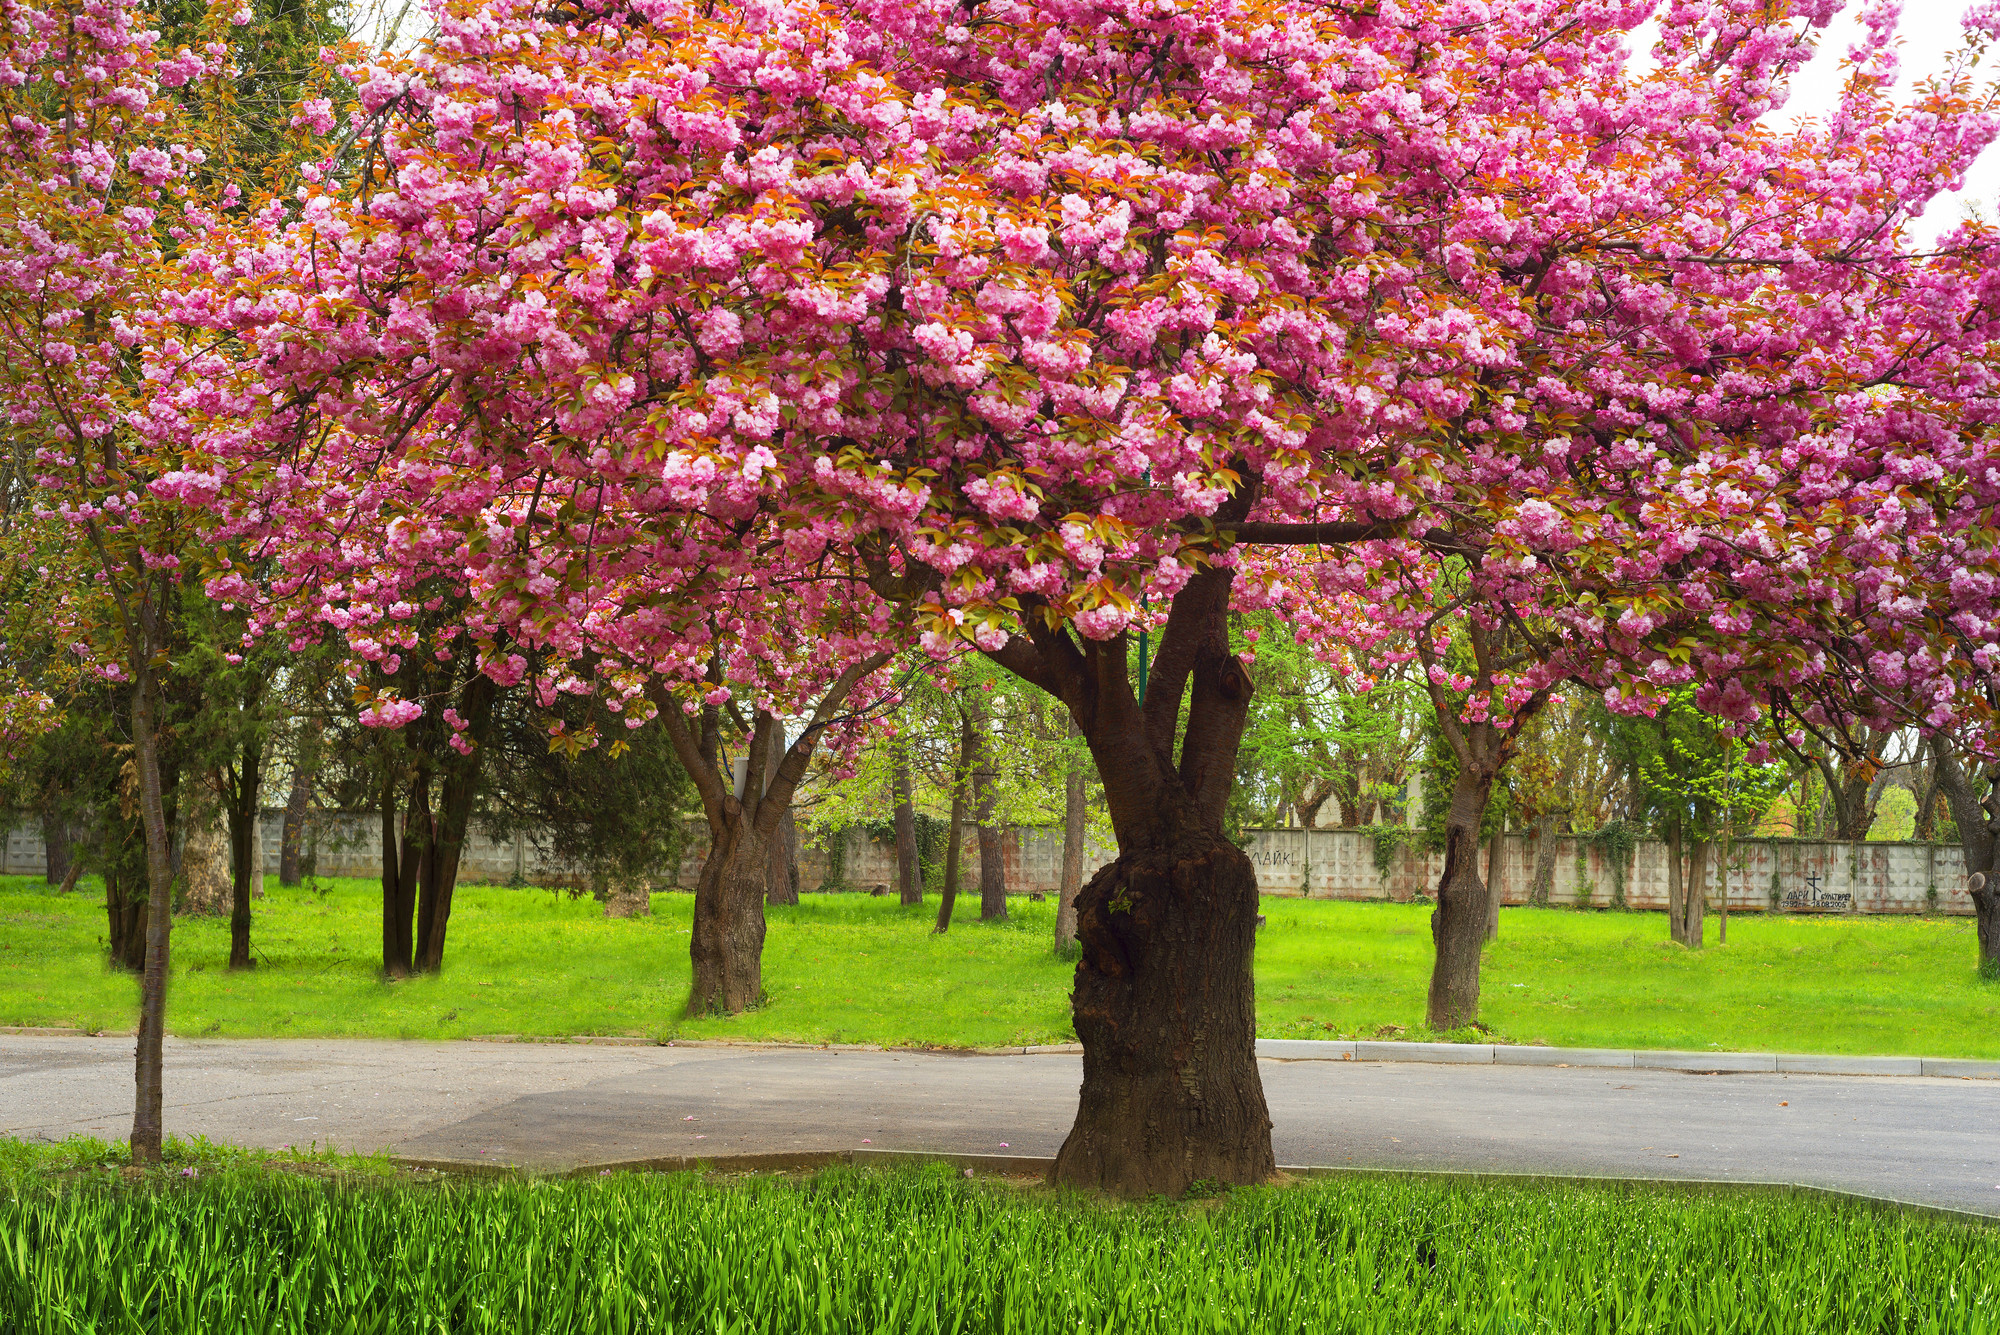
M 146 664 L 132 685 L 132 759 L 138 765 L 140 817 L 146 823 L 146 971 L 140 985 L 138 1045 L 134 1053 L 136 1099 L 132 1107 L 132 1161 L 158 1163 L 164 1101 L 168 931 L 174 923 L 174 857 L 160 785 L 160 683 L 150 668 L 166 650 L 148 610 Z

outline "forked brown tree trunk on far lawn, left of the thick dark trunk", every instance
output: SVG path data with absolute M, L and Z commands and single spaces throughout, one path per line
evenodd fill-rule
M 798 741 L 776 745 L 778 719 L 758 709 L 752 721 L 744 789 L 722 773 L 722 713 L 702 707 L 700 733 L 688 727 L 688 715 L 662 685 L 650 689 L 660 707 L 666 735 L 674 743 L 680 765 L 694 779 L 708 819 L 708 857 L 694 881 L 694 929 L 688 933 L 688 955 L 694 961 L 694 985 L 688 989 L 688 1015 L 710 1011 L 738 1013 L 764 995 L 764 879 L 770 869 L 770 841 L 792 805 L 820 733 L 838 713 L 848 693 L 888 654 L 874 654 L 850 664 L 820 695 Z M 720 685 L 720 669 L 716 683 Z M 776 769 L 772 761 L 776 759 Z

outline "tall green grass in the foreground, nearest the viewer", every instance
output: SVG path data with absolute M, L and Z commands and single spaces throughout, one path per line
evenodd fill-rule
M 100 1179 L 12 1179 L 0 1331 L 2000 1329 L 2000 1231 L 1786 1195 L 1334 1179 L 1116 1207 L 942 1167 Z

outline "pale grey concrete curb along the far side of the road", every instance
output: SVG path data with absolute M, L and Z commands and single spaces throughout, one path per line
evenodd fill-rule
M 2000 1061 L 1962 1057 L 1814 1057 L 1810 1053 L 1692 1053 L 1624 1047 L 1514 1047 L 1508 1043 L 1382 1043 L 1258 1039 L 1266 1061 L 1428 1061 L 1450 1065 L 1554 1065 L 1682 1071 L 1688 1075 L 1936 1075 L 2000 1079 Z

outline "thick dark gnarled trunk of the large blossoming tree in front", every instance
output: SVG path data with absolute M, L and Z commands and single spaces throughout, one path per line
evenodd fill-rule
M 1118 835 L 1076 901 L 1084 1083 L 1060 1183 L 1182 1195 L 1276 1165 L 1254 1051 L 1256 873 L 1222 829 L 1252 689 L 1228 648 L 1230 582 L 1208 568 L 1174 596 L 1144 705 L 1124 636 L 1076 642 L 1030 610 L 992 652 L 1068 705 Z

